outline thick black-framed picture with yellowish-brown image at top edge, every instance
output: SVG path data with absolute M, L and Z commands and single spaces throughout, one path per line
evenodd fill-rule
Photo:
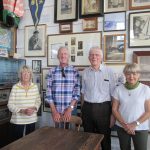
M 79 17 L 99 17 L 103 16 L 103 0 L 80 0 Z

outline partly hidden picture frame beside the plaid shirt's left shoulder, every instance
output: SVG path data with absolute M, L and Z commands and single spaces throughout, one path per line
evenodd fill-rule
M 47 89 L 47 76 L 50 68 L 43 68 L 42 69 L 42 89 Z

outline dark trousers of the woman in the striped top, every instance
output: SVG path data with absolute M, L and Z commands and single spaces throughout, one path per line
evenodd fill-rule
M 25 129 L 25 135 L 33 132 L 35 130 L 35 123 L 31 124 L 11 124 L 11 140 L 15 141 L 23 137 Z

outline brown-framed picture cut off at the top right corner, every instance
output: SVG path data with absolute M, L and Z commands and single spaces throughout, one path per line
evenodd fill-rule
M 149 0 L 129 0 L 129 9 L 138 10 L 138 9 L 150 9 Z

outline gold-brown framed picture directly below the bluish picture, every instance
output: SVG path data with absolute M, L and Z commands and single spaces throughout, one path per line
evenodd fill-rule
M 104 62 L 125 63 L 126 35 L 104 35 Z

